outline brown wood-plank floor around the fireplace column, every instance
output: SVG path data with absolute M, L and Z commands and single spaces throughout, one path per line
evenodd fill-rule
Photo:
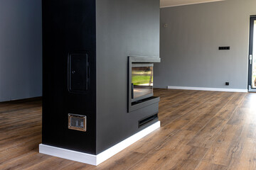
M 256 94 L 154 94 L 161 128 L 97 167 L 38 153 L 41 101 L 0 103 L 0 169 L 256 169 Z

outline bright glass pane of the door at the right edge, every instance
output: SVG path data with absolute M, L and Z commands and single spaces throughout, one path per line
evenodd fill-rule
M 253 49 L 252 49 L 252 88 L 256 88 L 256 21 L 253 27 Z

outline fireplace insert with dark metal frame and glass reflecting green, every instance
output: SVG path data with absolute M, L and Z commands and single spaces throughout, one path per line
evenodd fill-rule
M 153 94 L 153 71 L 156 62 L 161 62 L 161 59 L 128 57 L 128 113 L 159 103 L 160 98 Z

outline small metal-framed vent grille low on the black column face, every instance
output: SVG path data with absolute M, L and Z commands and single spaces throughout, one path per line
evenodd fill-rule
M 86 132 L 86 116 L 68 114 L 68 129 Z

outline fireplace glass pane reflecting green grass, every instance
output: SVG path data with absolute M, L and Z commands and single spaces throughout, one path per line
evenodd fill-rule
M 132 64 L 133 101 L 153 96 L 153 64 Z

